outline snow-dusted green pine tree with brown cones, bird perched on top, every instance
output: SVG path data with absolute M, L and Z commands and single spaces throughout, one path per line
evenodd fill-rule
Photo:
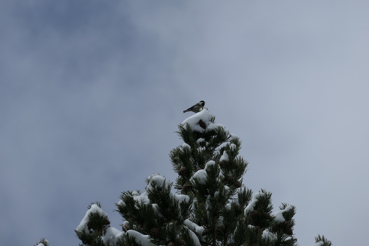
M 122 231 L 110 227 L 96 202 L 76 229 L 81 245 L 294 246 L 293 205 L 272 213 L 272 193 L 253 194 L 242 184 L 248 162 L 241 141 L 206 109 L 177 132 L 183 144 L 170 151 L 176 183 L 152 174 L 144 192 L 127 191 L 116 204 Z M 320 235 L 316 246 L 330 246 Z

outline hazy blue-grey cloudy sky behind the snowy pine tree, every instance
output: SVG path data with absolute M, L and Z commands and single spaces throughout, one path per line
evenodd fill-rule
M 206 101 L 239 136 L 244 184 L 297 208 L 300 245 L 367 242 L 368 1 L 3 1 L 3 245 L 78 245 L 100 201 L 176 174 Z

